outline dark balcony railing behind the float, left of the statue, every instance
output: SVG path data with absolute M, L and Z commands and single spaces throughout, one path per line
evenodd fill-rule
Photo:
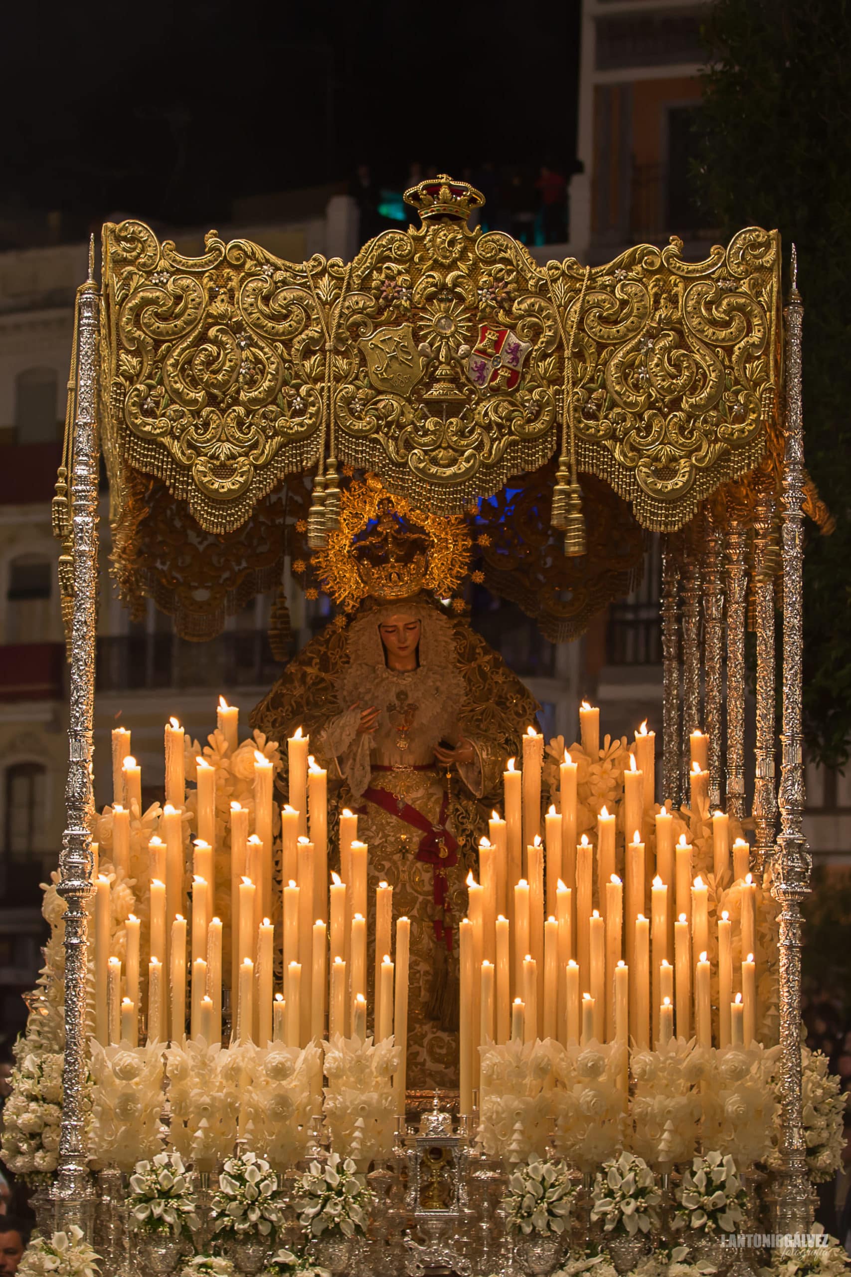
M 101 692 L 159 687 L 269 687 L 281 663 L 262 630 L 233 630 L 209 642 L 188 642 L 172 633 L 120 635 L 97 641 Z

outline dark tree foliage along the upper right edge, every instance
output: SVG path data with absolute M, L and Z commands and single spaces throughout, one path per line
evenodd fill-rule
M 836 518 L 809 529 L 804 720 L 810 755 L 851 741 L 851 4 L 717 0 L 704 27 L 697 178 L 713 223 L 778 227 L 804 298 L 806 466 Z

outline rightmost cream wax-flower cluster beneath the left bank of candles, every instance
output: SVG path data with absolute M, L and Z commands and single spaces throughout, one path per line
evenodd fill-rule
M 334 1034 L 325 1048 L 324 1121 L 332 1147 L 371 1161 L 388 1157 L 396 1137 L 393 1074 L 399 1050 L 393 1038 L 343 1038 Z

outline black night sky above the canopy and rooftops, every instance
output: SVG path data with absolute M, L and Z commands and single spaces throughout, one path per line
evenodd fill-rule
M 137 5 L 4 15 L 3 216 L 84 231 L 226 220 L 235 198 L 411 161 L 569 174 L 578 0 Z

